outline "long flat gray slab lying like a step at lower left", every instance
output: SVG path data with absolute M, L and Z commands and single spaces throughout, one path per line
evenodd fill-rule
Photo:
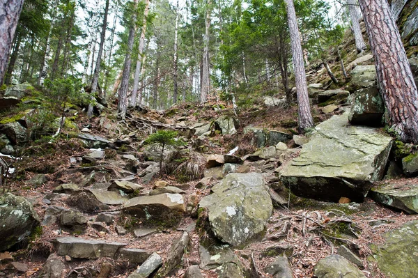
M 126 244 L 104 240 L 85 240 L 83 238 L 56 238 L 56 254 L 72 258 L 114 258 L 119 248 Z

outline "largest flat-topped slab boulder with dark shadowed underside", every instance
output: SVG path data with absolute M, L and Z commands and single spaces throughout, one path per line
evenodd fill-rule
M 298 196 L 363 201 L 372 182 L 383 177 L 391 148 L 391 137 L 348 125 L 347 114 L 332 116 L 316 126 L 299 157 L 281 169 L 281 181 Z

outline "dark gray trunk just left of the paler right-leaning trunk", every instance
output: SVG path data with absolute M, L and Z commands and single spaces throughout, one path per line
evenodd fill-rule
M 138 0 L 134 0 L 134 15 L 132 15 L 132 22 L 129 29 L 129 36 L 127 38 L 127 50 L 125 55 L 125 64 L 123 65 L 121 88 L 119 88 L 118 94 L 118 116 L 122 120 L 125 119 L 126 114 L 126 100 L 127 100 L 127 86 L 129 85 L 130 68 L 132 63 L 132 47 L 134 46 L 134 38 L 136 31 L 137 21 L 137 7 Z

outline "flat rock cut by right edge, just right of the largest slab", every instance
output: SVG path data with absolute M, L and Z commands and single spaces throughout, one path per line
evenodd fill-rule
M 385 206 L 403 210 L 408 214 L 418 213 L 418 185 L 381 185 L 372 188 L 371 198 Z

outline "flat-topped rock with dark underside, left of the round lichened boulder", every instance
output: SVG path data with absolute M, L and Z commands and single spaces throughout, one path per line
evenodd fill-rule
M 169 193 L 139 196 L 130 199 L 123 206 L 123 212 L 134 215 L 143 222 L 162 226 L 175 226 L 185 211 L 183 196 Z

